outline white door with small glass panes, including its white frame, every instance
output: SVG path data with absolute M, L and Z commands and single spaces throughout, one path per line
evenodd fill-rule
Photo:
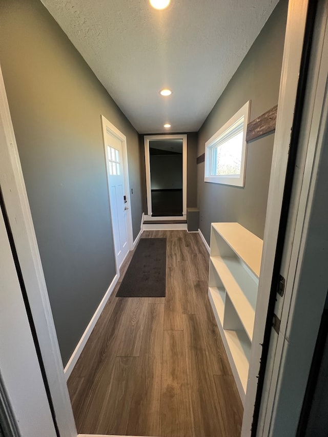
M 101 116 L 112 221 L 116 273 L 133 248 L 127 140 L 113 124 Z

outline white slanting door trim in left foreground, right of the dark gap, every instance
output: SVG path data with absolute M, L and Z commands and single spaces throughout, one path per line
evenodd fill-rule
M 0 186 L 61 437 L 76 437 L 48 291 L 0 68 Z M 33 351 L 31 350 L 31 354 Z

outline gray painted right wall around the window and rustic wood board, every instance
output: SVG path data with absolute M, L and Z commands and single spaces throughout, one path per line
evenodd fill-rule
M 205 143 L 248 100 L 250 120 L 278 103 L 288 2 L 280 0 L 198 133 L 198 156 Z M 211 222 L 236 221 L 263 238 L 274 134 L 248 144 L 244 188 L 204 182 L 197 165 L 200 230 L 210 243 Z

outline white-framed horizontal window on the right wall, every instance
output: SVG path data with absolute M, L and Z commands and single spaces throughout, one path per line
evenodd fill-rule
M 244 186 L 250 101 L 205 143 L 205 182 Z

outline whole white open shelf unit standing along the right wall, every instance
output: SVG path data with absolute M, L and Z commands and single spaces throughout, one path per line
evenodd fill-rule
M 209 297 L 244 402 L 263 242 L 239 223 L 212 223 Z

